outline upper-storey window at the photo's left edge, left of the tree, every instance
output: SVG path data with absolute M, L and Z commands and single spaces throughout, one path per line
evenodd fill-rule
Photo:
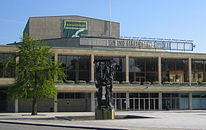
M 15 76 L 15 67 L 10 65 L 5 68 L 5 61 L 9 58 L 14 58 L 14 54 L 0 53 L 0 78 L 13 78 Z

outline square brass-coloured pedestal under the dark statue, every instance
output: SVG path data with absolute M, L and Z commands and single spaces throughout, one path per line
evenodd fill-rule
M 102 110 L 95 110 L 95 119 L 96 120 L 113 120 L 115 119 L 115 112 L 114 109 L 102 109 Z

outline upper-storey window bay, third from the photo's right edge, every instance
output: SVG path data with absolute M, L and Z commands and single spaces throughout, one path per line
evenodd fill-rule
M 158 81 L 157 58 L 129 58 L 130 82 L 155 82 Z

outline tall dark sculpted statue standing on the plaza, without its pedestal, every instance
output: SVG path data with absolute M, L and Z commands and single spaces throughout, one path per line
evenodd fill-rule
M 112 60 L 96 60 L 97 109 L 113 109 L 112 81 L 116 64 Z

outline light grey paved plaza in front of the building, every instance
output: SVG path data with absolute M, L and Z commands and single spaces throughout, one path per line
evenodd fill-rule
M 136 118 L 93 120 L 65 117 L 92 117 L 94 112 L 0 113 L 0 123 L 53 126 L 81 129 L 129 129 L 129 130 L 206 130 L 206 110 L 177 111 L 122 111 L 115 115 Z M 0 125 L 1 128 L 1 125 Z

